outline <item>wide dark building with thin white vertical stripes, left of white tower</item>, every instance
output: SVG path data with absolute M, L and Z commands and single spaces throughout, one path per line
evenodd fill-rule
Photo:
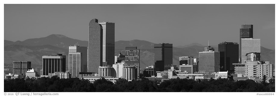
M 42 56 L 42 75 L 66 71 L 66 55 Z

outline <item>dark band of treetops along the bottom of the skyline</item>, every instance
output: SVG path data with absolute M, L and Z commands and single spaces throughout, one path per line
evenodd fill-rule
M 265 79 L 266 80 L 266 79 Z M 79 78 L 60 79 L 42 77 L 4 80 L 4 92 L 275 92 L 275 79 L 256 83 L 253 80 L 180 79 L 164 82 L 148 79 L 127 81 L 119 78 L 116 83 L 104 78 L 90 83 Z

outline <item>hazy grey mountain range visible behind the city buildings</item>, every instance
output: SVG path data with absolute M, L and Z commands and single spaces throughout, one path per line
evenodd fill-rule
M 80 46 L 88 46 L 88 41 L 72 39 L 58 34 L 16 42 L 4 40 L 4 63 L 12 65 L 13 61 L 31 61 L 32 67 L 41 68 L 43 55 L 59 53 L 66 55 L 68 60 L 68 46 L 75 43 L 78 43 Z M 154 43 L 144 40 L 117 41 L 115 42 L 115 55 L 119 53 L 125 54 L 125 47 L 128 46 L 136 46 L 140 49 L 140 69 L 154 64 Z M 199 52 L 204 47 L 206 46 L 199 43 L 173 47 L 173 64 L 179 65 L 179 57 L 181 56 L 198 58 Z M 213 46 L 213 48 L 218 50 L 217 47 Z M 275 64 L 275 50 L 261 47 L 261 51 L 262 60 L 272 61 Z M 67 67 L 68 65 L 66 65 Z

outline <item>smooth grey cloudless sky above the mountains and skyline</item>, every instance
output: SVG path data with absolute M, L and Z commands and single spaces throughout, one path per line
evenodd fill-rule
M 91 19 L 115 23 L 115 41 L 146 40 L 174 46 L 239 43 L 239 28 L 275 49 L 275 4 L 4 4 L 4 39 L 51 34 L 88 41 Z

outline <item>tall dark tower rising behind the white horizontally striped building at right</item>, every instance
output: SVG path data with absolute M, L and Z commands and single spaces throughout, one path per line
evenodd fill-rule
M 239 61 L 240 63 L 243 63 L 242 61 L 242 54 L 241 54 L 241 39 L 242 38 L 253 38 L 253 25 L 241 25 L 240 28 L 240 39 L 239 39 Z

